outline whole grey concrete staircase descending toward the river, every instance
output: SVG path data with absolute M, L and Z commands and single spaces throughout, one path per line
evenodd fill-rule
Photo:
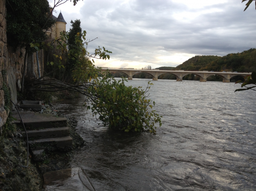
M 20 115 L 27 130 L 29 150 L 35 161 L 44 160 L 44 152 L 68 151 L 72 148 L 66 118 L 31 111 L 20 111 Z M 13 112 L 12 117 L 17 119 L 13 123 L 23 130 L 17 111 Z M 25 131 L 23 135 L 26 137 Z

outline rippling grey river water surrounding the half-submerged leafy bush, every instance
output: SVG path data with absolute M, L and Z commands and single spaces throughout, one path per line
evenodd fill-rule
M 148 80 L 128 81 L 147 86 Z M 85 146 L 71 163 L 95 190 L 256 190 L 256 93 L 222 82 L 154 81 L 157 134 L 109 131 L 81 105 L 56 104 L 79 120 Z

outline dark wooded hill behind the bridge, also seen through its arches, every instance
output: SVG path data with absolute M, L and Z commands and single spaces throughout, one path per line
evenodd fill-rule
M 143 68 L 144 69 L 144 68 Z M 185 70 L 185 71 L 215 71 L 215 72 L 252 72 L 256 70 L 256 49 L 249 49 L 243 52 L 230 53 L 226 56 L 194 56 L 177 67 L 162 66 L 155 69 L 159 70 Z M 112 73 L 114 77 L 126 76 L 121 72 Z M 150 74 L 140 72 L 133 78 L 152 79 Z M 176 80 L 173 74 L 162 74 L 158 79 Z M 234 77 L 231 81 L 237 81 L 240 77 Z M 183 80 L 200 80 L 194 74 L 188 74 Z M 222 81 L 218 75 L 208 77 L 207 81 Z

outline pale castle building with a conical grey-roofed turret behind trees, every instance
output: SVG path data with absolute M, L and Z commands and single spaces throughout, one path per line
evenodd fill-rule
M 52 18 L 56 21 L 52 28 L 46 31 L 49 38 L 54 39 L 60 37 L 60 32 L 66 31 L 67 22 L 64 20 L 62 13 L 60 12 L 58 18 L 52 15 Z

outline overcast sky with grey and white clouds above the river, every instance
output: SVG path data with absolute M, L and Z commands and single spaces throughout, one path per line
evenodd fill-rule
M 51 0 L 49 0 L 51 2 Z M 72 0 L 73 2 L 73 0 Z M 224 56 L 256 46 L 255 3 L 243 12 L 241 0 L 83 0 L 68 1 L 60 10 L 80 19 L 93 53 L 98 46 L 112 51 L 96 66 L 141 68 L 177 66 L 195 55 Z

